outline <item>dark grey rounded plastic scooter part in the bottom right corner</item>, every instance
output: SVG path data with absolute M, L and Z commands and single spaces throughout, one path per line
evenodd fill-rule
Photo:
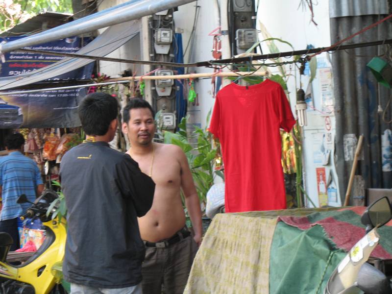
M 380 270 L 364 263 L 358 272 L 358 288 L 365 293 L 392 294 L 388 278 Z

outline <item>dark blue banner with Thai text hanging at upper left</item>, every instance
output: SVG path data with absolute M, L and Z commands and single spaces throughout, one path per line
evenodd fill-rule
M 14 41 L 21 37 L 0 39 Z M 79 37 L 65 38 L 25 49 L 74 53 L 81 49 L 83 40 Z M 84 40 L 84 44 L 86 41 Z M 32 73 L 57 61 L 63 56 L 45 53 L 11 51 L 4 53 L 5 62 L 0 63 L 0 78 Z M 73 80 L 91 77 L 94 63 L 46 80 Z M 70 83 L 70 85 L 72 85 Z M 14 92 L 12 90 L 10 92 Z M 86 95 L 87 89 L 52 90 L 0 96 L 0 128 L 33 127 L 74 127 L 79 126 L 77 106 Z

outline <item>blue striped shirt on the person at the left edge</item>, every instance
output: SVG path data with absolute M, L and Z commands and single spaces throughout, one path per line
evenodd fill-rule
M 25 194 L 27 199 L 33 202 L 39 184 L 43 184 L 41 174 L 31 158 L 19 151 L 13 151 L 7 156 L 0 157 L 0 185 L 2 188 L 0 221 L 24 215 L 31 204 L 18 204 L 16 200 Z

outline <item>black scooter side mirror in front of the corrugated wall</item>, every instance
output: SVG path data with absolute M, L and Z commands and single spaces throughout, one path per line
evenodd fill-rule
M 382 197 L 369 205 L 362 215 L 361 222 L 367 226 L 377 227 L 383 226 L 391 219 L 391 203 L 388 197 Z

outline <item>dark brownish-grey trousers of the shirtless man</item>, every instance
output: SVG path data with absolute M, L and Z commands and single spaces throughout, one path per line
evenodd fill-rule
M 192 236 L 167 247 L 147 247 L 142 264 L 142 287 L 145 294 L 182 294 L 197 251 Z

